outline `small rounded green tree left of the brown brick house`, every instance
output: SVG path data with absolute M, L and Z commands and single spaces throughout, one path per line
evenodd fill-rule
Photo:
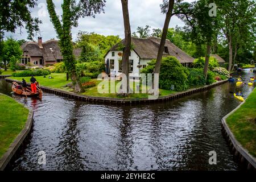
M 8 38 L 3 43 L 3 63 L 5 65 L 10 63 L 10 67 L 13 71 L 16 70 L 16 63 L 20 60 L 22 55 L 22 49 L 20 49 L 19 43 L 13 38 Z

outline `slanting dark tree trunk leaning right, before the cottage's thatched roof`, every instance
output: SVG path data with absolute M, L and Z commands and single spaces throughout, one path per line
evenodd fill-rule
M 166 20 L 164 21 L 164 27 L 162 32 L 162 38 L 158 49 L 158 56 L 156 57 L 155 73 L 160 73 L 161 61 L 163 57 L 164 45 L 166 44 L 166 36 L 168 32 L 169 23 L 172 17 L 172 9 L 174 9 L 174 0 L 169 0 L 169 7 L 166 14 Z M 154 83 L 154 81 L 153 81 Z

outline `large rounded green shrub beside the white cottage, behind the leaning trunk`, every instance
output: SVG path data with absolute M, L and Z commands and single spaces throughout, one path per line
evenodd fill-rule
M 156 60 L 151 60 L 141 73 L 152 73 Z M 164 57 L 161 63 L 159 75 L 159 88 L 170 90 L 174 85 L 176 91 L 182 91 L 189 87 L 188 69 L 183 67 L 174 56 Z

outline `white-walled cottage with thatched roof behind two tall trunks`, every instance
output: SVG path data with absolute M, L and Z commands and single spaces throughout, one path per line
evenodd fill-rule
M 160 40 L 160 38 L 155 37 L 131 38 L 133 50 L 131 50 L 131 55 L 129 57 L 130 73 L 139 73 L 140 69 L 146 67 L 148 61 L 156 59 Z M 120 60 L 122 56 L 120 44 L 124 44 L 124 42 L 125 39 L 121 40 L 120 43 L 115 44 L 115 46 L 110 48 L 105 55 L 105 63 L 107 63 L 107 60 L 109 59 L 110 71 L 112 72 L 122 72 L 121 64 L 119 64 L 118 60 Z M 170 42 L 170 40 L 166 40 L 163 56 L 175 56 L 185 67 L 190 67 L 194 60 L 192 56 L 189 56 L 187 53 L 175 46 Z

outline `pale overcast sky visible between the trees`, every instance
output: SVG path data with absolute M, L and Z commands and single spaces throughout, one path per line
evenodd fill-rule
M 193 0 L 187 0 L 189 2 Z M 61 0 L 53 1 L 56 6 L 57 14 L 61 15 Z M 144 27 L 147 24 L 151 28 L 162 28 L 165 15 L 160 11 L 160 3 L 162 0 L 129 0 L 129 14 L 131 32 L 136 31 L 138 26 Z M 49 20 L 49 14 L 45 0 L 38 0 L 38 6 L 31 9 L 33 17 L 39 17 L 42 20 L 40 24 L 40 36 L 43 42 L 51 38 L 56 38 L 56 32 Z M 183 22 L 177 17 L 172 17 L 170 27 L 183 26 Z M 72 28 L 73 40 L 76 40 L 79 31 L 96 32 L 102 35 L 119 35 L 124 37 L 122 5 L 120 0 L 107 0 L 105 13 L 96 14 L 95 18 L 85 17 L 79 19 L 79 26 Z M 6 32 L 5 37 L 13 36 L 15 39 L 27 39 L 26 30 L 16 30 L 15 34 Z

